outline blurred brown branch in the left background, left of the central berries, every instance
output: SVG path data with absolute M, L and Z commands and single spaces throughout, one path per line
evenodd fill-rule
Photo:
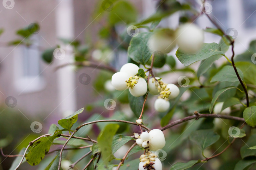
M 92 61 L 83 61 L 83 62 L 74 62 L 74 63 L 66 63 L 63 65 L 59 65 L 55 68 L 54 71 L 57 71 L 58 69 L 68 66 L 68 65 L 78 65 L 78 66 L 84 66 L 84 67 L 92 67 L 92 68 L 99 68 L 101 70 L 107 70 L 111 72 L 117 72 L 115 68 L 108 66 L 108 65 L 101 65 L 100 63 L 94 63 Z

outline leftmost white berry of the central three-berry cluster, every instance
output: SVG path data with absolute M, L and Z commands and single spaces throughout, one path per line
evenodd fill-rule
M 113 74 L 111 84 L 116 90 L 125 90 L 127 88 L 125 80 L 129 78 L 129 75 L 125 72 L 117 72 Z

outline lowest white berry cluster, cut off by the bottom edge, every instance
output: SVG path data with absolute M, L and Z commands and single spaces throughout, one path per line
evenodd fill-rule
M 157 155 L 151 151 L 162 149 L 165 145 L 164 134 L 159 129 L 153 129 L 149 133 L 142 132 L 140 135 L 134 133 L 136 143 L 145 148 L 145 154 L 140 156 L 139 170 L 162 170 L 162 163 Z

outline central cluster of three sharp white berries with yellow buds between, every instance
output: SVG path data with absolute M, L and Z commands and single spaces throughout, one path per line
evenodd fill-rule
M 139 67 L 132 63 L 123 65 L 119 72 L 113 74 L 111 83 L 116 90 L 129 88 L 131 95 L 143 96 L 147 93 L 147 82 L 138 75 Z

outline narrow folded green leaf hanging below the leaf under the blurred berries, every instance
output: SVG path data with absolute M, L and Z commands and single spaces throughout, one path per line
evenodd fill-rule
M 210 68 L 213 62 L 221 57 L 221 55 L 214 55 L 208 59 L 202 60 L 197 70 L 197 77 L 200 77 L 202 74 L 204 74 Z

